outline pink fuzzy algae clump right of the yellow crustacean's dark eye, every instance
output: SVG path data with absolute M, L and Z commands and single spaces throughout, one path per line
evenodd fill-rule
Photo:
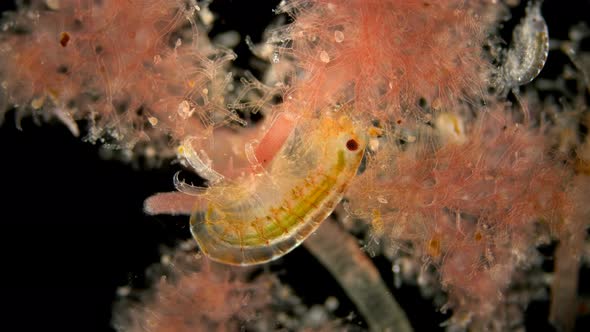
M 479 318 L 535 245 L 564 229 L 570 209 L 570 174 L 548 157 L 543 130 L 505 114 L 471 119 L 461 140 L 445 133 L 449 119 L 437 119 L 440 128 L 415 143 L 382 147 L 351 186 L 350 212 L 438 267 L 450 306 Z M 451 122 L 466 120 L 457 117 Z

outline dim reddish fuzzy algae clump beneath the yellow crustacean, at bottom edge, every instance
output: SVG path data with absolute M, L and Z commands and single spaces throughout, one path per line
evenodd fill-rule
M 194 243 L 165 248 L 150 266 L 148 290 L 121 287 L 113 327 L 124 332 L 344 331 L 335 298 L 308 308 L 276 275 L 221 265 L 195 253 Z

